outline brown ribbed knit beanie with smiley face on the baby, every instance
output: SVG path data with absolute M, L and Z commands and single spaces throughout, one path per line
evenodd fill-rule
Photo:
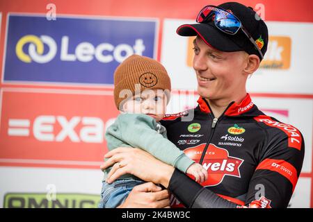
M 143 92 L 145 89 L 163 89 L 169 101 L 170 77 L 168 72 L 157 60 L 145 56 L 129 56 L 114 72 L 116 108 L 120 110 L 123 100 L 134 96 L 135 92 Z

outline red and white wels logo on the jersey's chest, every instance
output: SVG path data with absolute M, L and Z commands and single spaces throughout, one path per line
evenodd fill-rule
M 206 144 L 200 144 L 184 150 L 186 155 L 195 162 L 200 162 L 202 151 Z M 244 160 L 229 155 L 224 148 L 209 144 L 204 156 L 202 166 L 207 169 L 208 179 L 202 183 L 204 187 L 219 185 L 225 176 L 235 176 L 240 178 L 239 167 Z

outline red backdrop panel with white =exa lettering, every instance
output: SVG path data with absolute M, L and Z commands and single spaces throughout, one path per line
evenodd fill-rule
M 111 94 L 7 90 L 2 92 L 0 166 L 99 169 L 107 151 L 105 128 L 118 115 Z

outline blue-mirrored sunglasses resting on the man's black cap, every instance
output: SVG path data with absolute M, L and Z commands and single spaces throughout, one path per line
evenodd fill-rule
M 235 35 L 239 29 L 246 34 L 250 42 L 255 46 L 257 51 L 259 51 L 259 55 L 263 59 L 263 53 L 255 43 L 255 40 L 251 37 L 250 33 L 248 33 L 247 29 L 243 27 L 241 21 L 232 13 L 227 12 L 227 10 L 223 8 L 218 8 L 217 6 L 205 6 L 200 10 L 197 19 L 195 22 L 198 23 L 207 23 L 209 21 L 214 20 L 214 24 L 216 28 L 223 33 L 227 33 L 230 35 Z

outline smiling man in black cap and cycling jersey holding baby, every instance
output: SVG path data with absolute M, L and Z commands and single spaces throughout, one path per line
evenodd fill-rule
M 234 2 L 206 6 L 196 21 L 179 26 L 177 33 L 197 36 L 193 68 L 199 105 L 192 121 L 181 121 L 184 112 L 162 124 L 168 139 L 207 168 L 209 179 L 200 185 L 136 149 L 109 152 L 102 167 L 120 163 L 114 164 L 109 181 L 131 172 L 163 185 L 178 199 L 172 207 L 287 207 L 303 165 L 303 137 L 293 126 L 266 116 L 246 92 L 248 76 L 266 53 L 266 24 L 252 8 Z M 193 144 L 177 144 L 182 138 Z M 147 200 L 164 207 L 162 192 L 151 183 L 141 185 L 121 207 L 140 207 Z

